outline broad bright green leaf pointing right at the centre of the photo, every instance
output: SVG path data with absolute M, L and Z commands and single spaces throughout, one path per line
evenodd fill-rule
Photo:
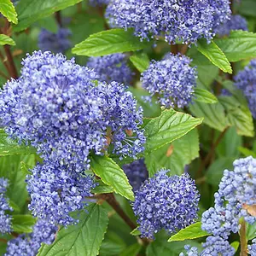
M 145 153 L 150 154 L 179 137 L 183 137 L 201 122 L 202 119 L 195 119 L 187 113 L 176 112 L 173 109 L 164 110 L 157 118 L 146 119 L 144 126 L 144 135 L 147 138 Z

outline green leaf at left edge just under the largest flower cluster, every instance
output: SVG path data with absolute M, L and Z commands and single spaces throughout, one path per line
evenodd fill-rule
M 3 129 L 0 130 L 0 156 L 35 153 L 36 148 L 28 147 L 25 144 L 19 145 L 15 140 L 9 138 Z

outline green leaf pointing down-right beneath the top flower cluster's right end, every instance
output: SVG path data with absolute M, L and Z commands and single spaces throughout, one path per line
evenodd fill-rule
M 223 51 L 213 41 L 207 44 L 207 40 L 201 39 L 197 42 L 197 49 L 205 55 L 215 66 L 225 73 L 232 73 L 232 67 Z

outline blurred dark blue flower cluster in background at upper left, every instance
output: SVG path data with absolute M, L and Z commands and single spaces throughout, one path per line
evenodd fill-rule
M 71 35 L 71 31 L 67 28 L 59 28 L 56 33 L 42 29 L 38 36 L 38 47 L 43 51 L 50 50 L 55 53 L 64 53 L 72 46 L 68 39 Z

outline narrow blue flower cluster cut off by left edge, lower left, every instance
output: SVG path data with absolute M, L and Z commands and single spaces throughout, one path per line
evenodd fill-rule
M 6 211 L 13 211 L 9 207 L 6 197 L 6 189 L 8 188 L 8 181 L 3 177 L 0 178 L 0 233 L 9 233 L 11 231 L 11 217 Z

